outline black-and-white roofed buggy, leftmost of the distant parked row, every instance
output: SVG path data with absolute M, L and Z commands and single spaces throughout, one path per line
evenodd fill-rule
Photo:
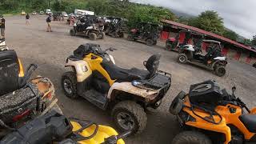
M 101 18 L 85 16 L 74 24 L 74 29 L 70 30 L 70 35 L 83 35 L 90 38 L 90 40 L 96 40 L 97 38 L 103 39 L 105 37 L 103 28 L 104 21 Z

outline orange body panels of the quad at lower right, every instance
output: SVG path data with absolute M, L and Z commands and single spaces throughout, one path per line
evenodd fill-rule
M 215 111 L 222 116 L 222 122 L 220 122 L 221 118 L 219 118 L 218 115 L 214 115 L 213 116 L 214 121 L 220 122 L 220 123 L 213 124 L 210 122 L 206 122 L 205 120 L 202 119 L 202 118 L 209 117 L 210 114 L 206 113 L 203 110 L 194 108 L 194 113 L 202 117 L 202 118 L 199 118 L 190 110 L 189 107 L 191 107 L 191 105 L 190 105 L 190 99 L 188 96 L 186 96 L 184 100 L 184 105 L 185 106 L 183 107 L 182 110 L 186 111 L 186 113 L 190 114 L 190 116 L 196 119 L 195 122 L 186 122 L 187 126 L 193 126 L 199 129 L 210 130 L 210 131 L 225 134 L 225 137 L 226 137 L 226 142 L 224 142 L 225 144 L 228 144 L 231 141 L 231 131 L 230 131 L 230 127 L 227 126 L 228 124 L 232 124 L 233 126 L 236 126 L 238 130 L 242 132 L 246 140 L 250 140 L 250 138 L 254 136 L 254 133 L 251 133 L 249 130 L 247 130 L 246 126 L 244 126 L 243 123 L 240 121 L 239 116 L 242 115 L 242 109 L 239 106 L 234 106 L 231 104 L 227 104 L 226 106 L 217 106 L 215 108 Z M 234 113 L 230 113 L 230 108 L 235 108 L 236 111 Z M 256 108 L 251 110 L 250 114 L 256 114 Z

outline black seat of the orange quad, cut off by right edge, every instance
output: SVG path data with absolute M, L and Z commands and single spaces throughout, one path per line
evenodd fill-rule
M 251 133 L 256 133 L 256 114 L 243 114 L 239 119 Z

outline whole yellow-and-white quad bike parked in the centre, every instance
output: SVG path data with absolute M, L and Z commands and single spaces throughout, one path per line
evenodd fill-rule
M 113 48 L 107 49 L 113 51 Z M 122 131 L 140 133 L 146 127 L 146 107 L 157 108 L 170 89 L 170 74 L 158 70 L 160 54 L 144 62 L 146 70 L 126 70 L 99 45 L 85 44 L 66 60 L 72 71 L 62 75 L 69 98 L 86 98 L 102 110 L 112 107 L 112 118 Z

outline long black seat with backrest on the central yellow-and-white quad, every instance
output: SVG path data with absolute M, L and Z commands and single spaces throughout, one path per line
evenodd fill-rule
M 117 82 L 131 82 L 154 76 L 158 70 L 159 59 L 160 54 L 154 54 L 144 62 L 147 70 L 139 70 L 137 68 L 122 69 L 110 62 L 102 62 L 102 67 L 110 74 L 111 79 L 116 79 Z

